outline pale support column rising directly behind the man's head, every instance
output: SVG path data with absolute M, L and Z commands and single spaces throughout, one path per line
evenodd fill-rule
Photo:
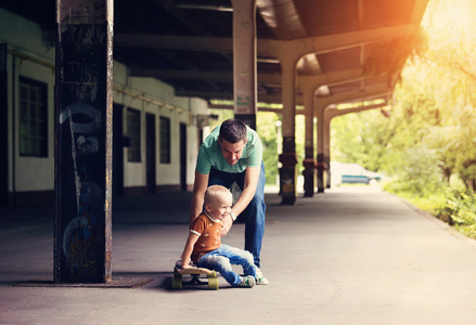
M 232 0 L 234 116 L 256 130 L 256 0 Z

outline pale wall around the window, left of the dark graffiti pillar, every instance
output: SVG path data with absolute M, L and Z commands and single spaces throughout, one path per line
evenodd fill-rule
M 54 65 L 54 49 L 42 42 L 42 32 L 38 25 L 2 9 L 0 9 L 0 42 L 7 43 L 9 50 L 7 66 L 9 76 L 9 191 L 52 190 L 54 188 L 54 69 L 51 66 Z M 50 140 L 48 157 L 21 157 L 18 155 L 17 112 L 21 76 L 48 84 L 48 136 Z M 15 121 L 14 139 L 12 138 L 13 119 Z

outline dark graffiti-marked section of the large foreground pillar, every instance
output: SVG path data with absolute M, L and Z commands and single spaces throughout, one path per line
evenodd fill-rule
M 102 25 L 62 30 L 55 249 L 60 281 L 101 282 L 104 274 L 105 36 Z

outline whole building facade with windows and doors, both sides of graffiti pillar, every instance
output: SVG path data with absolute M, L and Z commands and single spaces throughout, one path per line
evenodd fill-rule
M 54 200 L 55 49 L 0 9 L 0 205 Z M 51 38 L 51 36 L 50 36 Z M 191 191 L 208 103 L 114 62 L 113 195 Z

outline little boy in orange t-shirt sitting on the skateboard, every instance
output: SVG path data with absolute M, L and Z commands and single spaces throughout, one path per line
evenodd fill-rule
M 206 190 L 205 210 L 192 223 L 182 253 L 182 266 L 191 268 L 192 260 L 198 268 L 220 272 L 235 287 L 267 284 L 266 278 L 256 278 L 256 265 L 249 251 L 221 244 L 223 220 L 229 218 L 232 202 L 231 192 L 224 186 L 213 185 Z M 242 265 L 245 276 L 233 272 L 232 264 Z

